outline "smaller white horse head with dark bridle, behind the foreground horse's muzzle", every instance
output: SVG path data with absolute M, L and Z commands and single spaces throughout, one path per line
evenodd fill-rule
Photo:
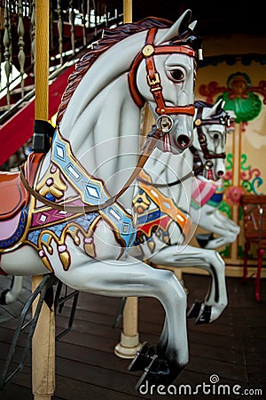
M 225 141 L 234 113 L 223 109 L 223 100 L 214 105 L 195 101 L 194 141 L 195 163 L 204 164 L 207 180 L 219 180 L 225 173 Z

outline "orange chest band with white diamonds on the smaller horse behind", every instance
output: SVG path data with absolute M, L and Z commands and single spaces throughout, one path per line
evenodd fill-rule
M 160 212 L 153 211 L 149 212 L 146 218 L 145 224 L 151 226 L 152 220 L 156 221 L 161 219 L 160 226 L 167 229 L 168 223 L 171 220 L 174 220 L 181 232 L 184 235 L 184 238 L 189 236 L 191 230 L 191 221 L 190 219 L 181 212 L 179 208 L 176 207 L 176 204 L 172 199 L 164 196 L 160 190 L 154 188 L 151 183 L 152 180 L 143 170 L 139 173 L 141 180 L 139 180 L 139 188 L 143 189 L 147 196 L 153 200 L 153 203 L 156 204 L 160 210 Z M 145 184 L 145 181 L 147 184 Z M 144 224 L 144 216 L 138 216 L 137 218 L 137 229 L 145 230 Z M 154 224 L 153 224 L 154 225 Z M 141 228 L 143 226 L 143 228 Z M 152 227 L 151 227 L 152 228 Z

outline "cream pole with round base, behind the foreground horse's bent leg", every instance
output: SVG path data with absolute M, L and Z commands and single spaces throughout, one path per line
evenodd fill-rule
M 132 0 L 123 0 L 123 22 L 132 22 Z M 138 299 L 129 297 L 123 311 L 121 341 L 114 348 L 114 354 L 121 358 L 134 358 L 141 348 L 137 332 Z

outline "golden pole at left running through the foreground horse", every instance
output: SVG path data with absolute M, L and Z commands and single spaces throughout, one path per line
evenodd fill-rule
M 35 0 L 35 119 L 48 121 L 49 0 Z M 32 277 L 32 291 L 43 276 Z M 35 313 L 36 301 L 33 304 Z M 45 301 L 32 340 L 32 391 L 50 400 L 55 389 L 55 316 Z

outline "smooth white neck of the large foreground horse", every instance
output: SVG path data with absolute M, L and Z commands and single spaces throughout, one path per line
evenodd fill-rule
M 74 160 L 85 173 L 104 182 L 107 192 L 114 196 L 137 165 L 140 110 L 131 100 L 126 76 L 113 81 L 79 114 L 75 112 L 80 106 L 77 101 L 75 97 L 71 103 L 74 122 L 68 112 L 59 134 L 69 143 Z M 47 160 L 43 163 L 45 171 L 50 166 L 50 155 L 47 159 L 48 165 Z M 132 207 L 132 190 L 129 188 L 120 198 L 127 209 Z M 65 196 L 74 196 L 73 189 L 68 188 Z

